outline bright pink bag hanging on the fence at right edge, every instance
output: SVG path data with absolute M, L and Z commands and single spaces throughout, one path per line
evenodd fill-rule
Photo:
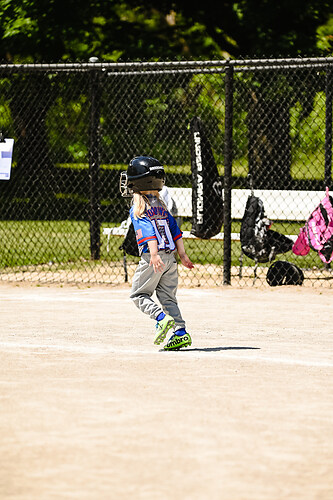
M 292 248 L 295 255 L 307 255 L 310 249 L 318 252 L 325 264 L 333 260 L 333 198 L 328 187 L 325 197 L 300 229 Z

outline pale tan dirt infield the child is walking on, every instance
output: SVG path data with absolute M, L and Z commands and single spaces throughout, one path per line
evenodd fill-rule
M 333 290 L 180 289 L 161 352 L 129 287 L 0 284 L 0 498 L 333 498 Z

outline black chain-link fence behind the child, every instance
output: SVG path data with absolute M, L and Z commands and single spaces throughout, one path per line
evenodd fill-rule
M 138 258 L 120 248 L 119 177 L 143 154 L 165 165 L 188 235 L 196 267 L 179 266 L 180 285 L 265 284 L 271 262 L 241 251 L 246 202 L 252 188 L 272 229 L 295 241 L 331 185 L 332 75 L 332 58 L 1 65 L 0 132 L 15 142 L 11 177 L 0 180 L 0 279 L 130 280 Z M 209 239 L 191 235 L 194 118 L 223 187 L 220 233 Z M 214 203 L 205 200 L 212 217 Z M 306 286 L 332 286 L 316 251 L 274 259 L 299 266 Z

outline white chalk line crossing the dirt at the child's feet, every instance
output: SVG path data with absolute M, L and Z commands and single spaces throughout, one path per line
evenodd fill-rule
M 69 345 L 69 344 L 26 344 L 23 342 L 0 342 L 0 347 L 4 349 L 18 350 L 36 350 L 36 354 L 43 354 L 43 351 L 63 351 L 63 352 L 73 352 L 77 354 L 92 354 L 92 355 L 108 355 L 108 354 L 122 354 L 128 356 L 186 356 L 187 358 L 219 358 L 221 361 L 224 359 L 235 359 L 244 360 L 249 362 L 262 362 L 262 363 L 275 363 L 275 364 L 287 364 L 287 365 L 297 365 L 297 366 L 309 366 L 309 367 L 326 367 L 333 368 L 333 362 L 330 361 L 315 361 L 315 360 L 302 360 L 302 359 L 292 359 L 283 357 L 269 357 L 269 356 L 258 356 L 253 352 L 248 356 L 231 354 L 230 350 L 227 348 L 224 350 L 212 350 L 209 348 L 196 348 L 196 349 L 184 349 L 182 351 L 177 351 L 174 353 L 150 351 L 150 350 L 132 350 L 132 349 L 122 349 L 114 347 L 99 347 L 99 346 L 84 346 L 84 345 Z M 214 348 L 212 348 L 214 349 Z M 47 354 L 47 352 L 44 352 Z

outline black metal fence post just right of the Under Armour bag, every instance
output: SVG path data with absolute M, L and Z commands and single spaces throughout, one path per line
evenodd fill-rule
M 231 185 L 232 185 L 232 122 L 233 122 L 233 75 L 232 64 L 227 63 L 225 72 L 225 131 L 224 131 L 224 247 L 223 284 L 231 284 Z

